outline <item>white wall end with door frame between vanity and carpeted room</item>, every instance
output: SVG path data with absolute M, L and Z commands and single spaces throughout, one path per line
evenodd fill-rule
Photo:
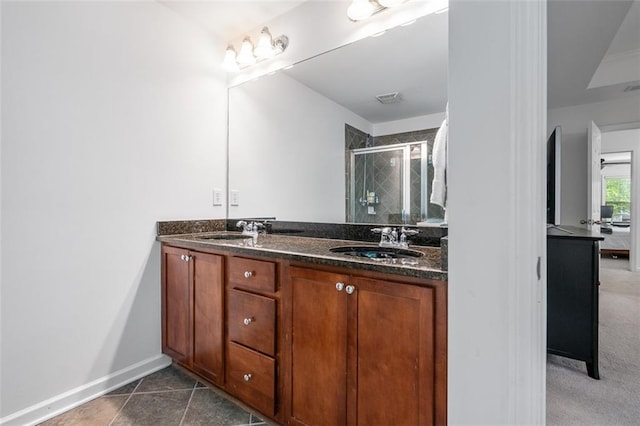
M 546 6 L 449 2 L 451 424 L 545 423 Z

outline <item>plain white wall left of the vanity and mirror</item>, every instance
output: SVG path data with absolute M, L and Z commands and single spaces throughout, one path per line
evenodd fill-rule
M 224 46 L 155 2 L 1 7 L 0 418 L 25 424 L 166 364 L 155 222 L 224 217 Z

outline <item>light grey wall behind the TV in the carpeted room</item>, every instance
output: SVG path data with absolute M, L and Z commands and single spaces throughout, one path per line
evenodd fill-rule
M 580 226 L 587 213 L 587 127 L 640 121 L 640 95 L 606 102 L 555 108 L 548 112 L 547 134 L 562 127 L 562 218 Z

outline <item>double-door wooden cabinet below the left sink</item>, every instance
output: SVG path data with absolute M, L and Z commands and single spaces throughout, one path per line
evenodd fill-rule
M 223 257 L 162 247 L 162 352 L 224 382 Z

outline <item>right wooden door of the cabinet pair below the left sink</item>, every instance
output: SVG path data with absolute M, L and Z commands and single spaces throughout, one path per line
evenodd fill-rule
M 197 373 L 221 384 L 224 377 L 222 257 L 193 253 L 193 359 Z

